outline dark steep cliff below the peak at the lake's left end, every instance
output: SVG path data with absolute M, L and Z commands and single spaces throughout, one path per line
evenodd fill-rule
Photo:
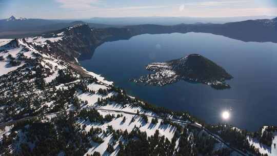
M 57 36 L 62 36 L 61 40 L 56 42 L 49 42 Z M 96 47 L 107 41 L 116 41 L 128 39 L 132 36 L 130 29 L 127 28 L 106 28 L 95 29 L 90 28 L 87 24 L 79 24 L 58 31 L 43 34 L 46 45 L 42 48 L 37 46 L 40 50 L 51 54 L 58 54 L 69 61 L 75 61 L 75 58 L 91 57 Z

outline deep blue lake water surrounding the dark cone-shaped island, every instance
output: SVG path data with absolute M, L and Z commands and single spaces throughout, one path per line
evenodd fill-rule
M 147 74 L 152 62 L 179 59 L 199 53 L 222 66 L 234 79 L 228 90 L 214 90 L 184 81 L 167 85 L 139 86 L 130 78 Z M 96 48 L 90 60 L 80 62 L 102 74 L 131 95 L 172 110 L 189 111 L 207 123 L 230 123 L 247 130 L 277 125 L 277 44 L 242 42 L 207 33 L 144 34 L 107 42 Z M 231 118 L 223 121 L 221 113 Z

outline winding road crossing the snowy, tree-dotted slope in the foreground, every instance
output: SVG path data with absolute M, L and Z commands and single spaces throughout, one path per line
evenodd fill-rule
M 110 111 L 110 112 L 118 112 L 118 113 L 126 113 L 126 114 L 131 114 L 131 115 L 137 115 L 137 113 L 134 113 L 134 112 L 123 111 L 123 110 L 102 109 L 102 108 L 99 108 L 99 107 L 90 107 L 90 108 L 86 108 L 86 109 L 87 110 L 88 109 L 95 109 L 95 110 L 100 110 L 100 111 Z M 13 125 L 13 124 L 18 123 L 18 122 L 28 121 L 28 120 L 32 120 L 32 119 L 37 119 L 39 117 L 55 115 L 55 114 L 62 113 L 62 112 L 69 113 L 69 112 L 77 112 L 77 111 L 82 111 L 82 110 L 83 109 L 69 110 L 69 111 L 58 111 L 58 112 L 49 113 L 49 114 L 45 114 L 45 115 L 27 116 L 26 118 L 14 120 L 14 121 L 9 121 L 9 122 L 6 122 L 6 123 L 1 123 L 0 124 L 0 129 L 4 129 L 5 126 L 10 126 L 10 125 Z M 138 115 L 141 116 L 142 114 L 138 114 Z M 162 119 L 162 120 L 166 119 L 166 118 L 162 118 L 162 117 L 159 117 L 159 116 L 151 116 L 151 115 L 146 115 L 146 116 L 149 117 L 149 118 L 157 118 L 157 119 Z M 238 150 L 236 148 L 231 147 L 227 142 L 222 140 L 219 136 L 217 136 L 216 134 L 213 134 L 212 132 L 210 132 L 208 129 L 206 129 L 205 127 L 201 126 L 200 124 L 191 123 L 191 122 L 187 122 L 187 121 L 181 121 L 181 120 L 174 120 L 174 119 L 167 119 L 167 120 L 169 120 L 171 122 L 176 122 L 176 123 L 189 124 L 190 126 L 193 126 L 193 127 L 196 127 L 196 128 L 200 128 L 200 129 L 204 130 L 205 132 L 207 132 L 209 135 L 211 135 L 214 139 L 216 139 L 217 141 L 222 142 L 224 145 L 226 145 L 230 149 L 238 152 L 239 154 L 244 155 L 244 156 L 253 155 L 253 154 L 250 154 L 250 153 L 246 154 L 246 153 L 242 152 L 241 150 Z

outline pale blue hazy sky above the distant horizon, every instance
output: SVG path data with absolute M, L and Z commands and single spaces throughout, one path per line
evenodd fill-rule
M 277 0 L 0 0 L 0 18 L 277 15 Z

